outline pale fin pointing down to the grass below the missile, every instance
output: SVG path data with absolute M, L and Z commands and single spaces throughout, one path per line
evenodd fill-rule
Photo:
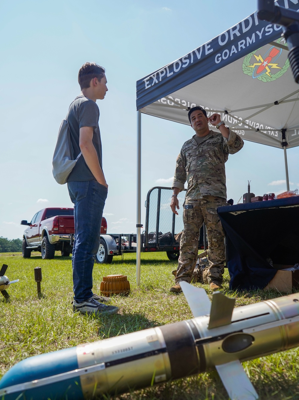
M 231 399 L 256 400 L 259 398 L 239 360 L 215 367 Z

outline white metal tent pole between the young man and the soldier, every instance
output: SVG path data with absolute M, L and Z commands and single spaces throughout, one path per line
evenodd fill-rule
M 136 284 L 140 287 L 141 256 L 141 112 L 137 111 L 137 237 L 136 237 Z

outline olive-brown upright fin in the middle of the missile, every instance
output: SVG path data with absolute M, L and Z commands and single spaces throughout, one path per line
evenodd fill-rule
M 211 315 L 208 329 L 229 325 L 236 299 L 229 298 L 221 292 L 215 292 L 212 298 Z

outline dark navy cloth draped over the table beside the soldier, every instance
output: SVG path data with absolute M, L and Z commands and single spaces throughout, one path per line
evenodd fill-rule
M 227 238 L 230 289 L 264 288 L 277 269 L 299 263 L 299 196 L 217 209 Z

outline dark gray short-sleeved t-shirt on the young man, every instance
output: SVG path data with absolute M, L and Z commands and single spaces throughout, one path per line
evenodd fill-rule
M 68 110 L 67 120 L 70 128 L 70 142 L 72 147 L 72 156 L 75 160 L 80 153 L 79 147 L 79 130 L 83 126 L 93 127 L 92 143 L 98 154 L 98 161 L 102 168 L 102 143 L 100 129 L 98 127 L 98 119 L 100 110 L 97 104 L 83 96 L 82 94 L 75 98 Z M 90 169 L 88 168 L 84 157 L 81 155 L 76 162 L 72 172 L 68 176 L 68 181 L 87 181 L 94 180 Z

